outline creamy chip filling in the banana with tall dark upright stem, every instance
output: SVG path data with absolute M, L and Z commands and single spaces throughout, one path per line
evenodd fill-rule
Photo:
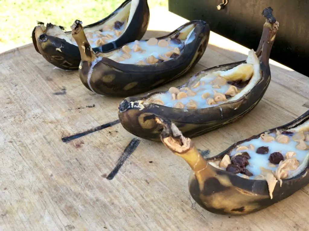
M 239 99 L 261 78 L 260 61 L 253 50 L 249 51 L 246 63 L 226 71 L 205 72 L 187 87 L 171 87 L 166 92 L 150 96 L 143 103 L 185 109 L 212 107 Z

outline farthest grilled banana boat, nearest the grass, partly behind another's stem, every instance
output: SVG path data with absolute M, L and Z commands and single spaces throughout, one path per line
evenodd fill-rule
M 125 43 L 142 39 L 149 24 L 147 0 L 125 0 L 112 14 L 84 27 L 94 52 L 110 51 Z M 77 70 L 81 56 L 71 31 L 62 26 L 38 22 L 32 43 L 38 53 L 63 70 Z

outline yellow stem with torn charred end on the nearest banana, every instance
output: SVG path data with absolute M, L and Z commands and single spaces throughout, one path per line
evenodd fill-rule
M 163 126 L 160 138 L 168 149 L 182 157 L 195 173 L 208 170 L 208 162 L 201 156 L 192 140 L 184 137 L 175 124 L 161 117 L 155 117 L 155 121 Z

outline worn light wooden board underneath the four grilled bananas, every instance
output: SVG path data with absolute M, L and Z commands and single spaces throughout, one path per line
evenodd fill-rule
M 161 9 L 150 14 L 144 38 L 187 22 Z M 206 67 L 243 60 L 248 50 L 211 33 L 196 67 L 156 90 Z M 271 72 L 258 106 L 242 120 L 194 138 L 198 148 L 215 155 L 308 110 L 309 78 L 273 61 Z M 309 230 L 309 186 L 257 213 L 215 215 L 190 197 L 189 166 L 162 143 L 140 140 L 114 178 L 106 179 L 136 137 L 116 124 L 68 143 L 61 138 L 117 120 L 122 98 L 87 90 L 77 71 L 54 69 L 32 44 L 0 55 L 0 78 L 1 230 Z

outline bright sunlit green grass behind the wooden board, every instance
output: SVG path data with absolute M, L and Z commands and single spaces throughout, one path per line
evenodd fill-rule
M 124 0 L 0 0 L 0 50 L 32 43 L 36 21 L 51 22 L 70 30 L 75 19 L 83 25 L 112 13 Z M 149 8 L 164 7 L 167 0 L 148 0 Z M 3 23 L 4 22 L 4 23 Z

